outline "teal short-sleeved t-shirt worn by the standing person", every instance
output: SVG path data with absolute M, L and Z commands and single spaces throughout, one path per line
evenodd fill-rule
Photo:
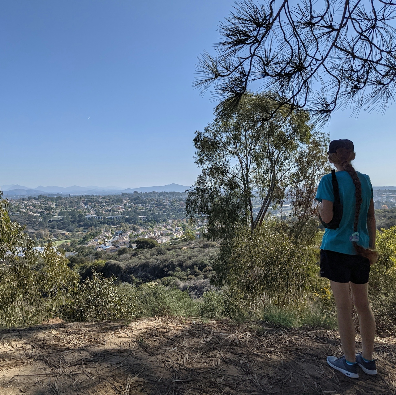
M 373 198 L 373 187 L 369 176 L 356 172 L 362 183 L 362 206 L 360 207 L 358 232 L 360 246 L 369 247 L 369 234 L 367 231 L 367 212 L 369 210 L 370 200 Z M 343 205 L 343 217 L 340 226 L 337 229 L 326 229 L 324 232 L 321 249 L 341 252 L 343 254 L 356 255 L 356 250 L 349 240 L 353 233 L 353 223 L 355 220 L 355 185 L 352 178 L 346 171 L 335 172 L 337 177 L 340 200 Z M 320 180 L 316 200 L 322 199 L 334 202 L 333 184 L 331 183 L 331 174 L 326 174 Z

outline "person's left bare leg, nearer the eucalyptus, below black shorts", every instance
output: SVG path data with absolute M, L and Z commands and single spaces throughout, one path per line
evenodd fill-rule
M 337 283 L 330 280 L 330 285 L 335 299 L 335 306 L 337 307 L 338 331 L 345 359 L 355 362 L 355 325 L 352 320 L 352 300 L 349 295 L 349 283 Z

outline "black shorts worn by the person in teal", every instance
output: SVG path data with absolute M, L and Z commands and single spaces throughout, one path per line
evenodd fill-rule
M 320 250 L 320 277 L 337 283 L 366 284 L 369 274 L 370 261 L 362 255 Z

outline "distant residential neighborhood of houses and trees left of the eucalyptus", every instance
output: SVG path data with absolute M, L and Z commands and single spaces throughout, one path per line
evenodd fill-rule
M 71 246 L 89 243 L 110 251 L 112 247 L 132 247 L 138 236 L 164 244 L 183 236 L 187 227 L 202 233 L 199 227 L 188 226 L 186 197 L 180 192 L 38 195 L 10 199 L 8 212 L 11 219 L 26 226 L 38 247 L 48 242 Z

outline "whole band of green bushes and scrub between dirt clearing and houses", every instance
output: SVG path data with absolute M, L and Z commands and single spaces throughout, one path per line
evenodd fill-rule
M 114 254 L 80 246 L 69 260 L 63 249 L 51 244 L 44 253 L 34 251 L 34 242 L 23 227 L 10 221 L 4 205 L 0 213 L 3 327 L 56 317 L 108 321 L 144 316 L 336 326 L 329 282 L 318 277 L 320 231 L 315 231 L 312 244 L 295 244 L 293 228 L 267 220 L 253 235 L 240 234 L 223 249 L 206 240 L 120 248 Z M 372 266 L 369 296 L 377 332 L 385 335 L 395 333 L 396 227 L 378 232 L 377 245 L 381 257 Z M 222 279 L 227 282 L 222 284 Z

